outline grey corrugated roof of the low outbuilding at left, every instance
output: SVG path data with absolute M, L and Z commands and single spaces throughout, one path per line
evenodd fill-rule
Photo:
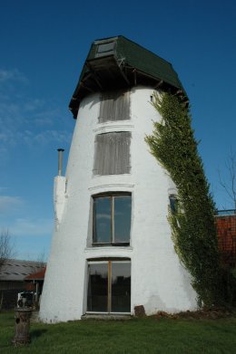
M 43 267 L 42 262 L 8 259 L 0 268 L 0 282 L 24 282 L 26 275 L 39 272 Z

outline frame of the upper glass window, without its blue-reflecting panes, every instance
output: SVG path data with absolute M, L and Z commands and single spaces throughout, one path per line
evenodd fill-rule
M 97 195 L 92 196 L 93 198 L 93 228 L 92 228 L 92 245 L 93 246 L 129 246 L 130 239 L 131 239 L 131 226 L 130 226 L 130 234 L 129 234 L 129 242 L 115 242 L 115 228 L 114 228 L 114 198 L 119 196 L 130 196 L 131 198 L 131 214 L 130 214 L 130 221 L 132 222 L 132 193 L 131 192 L 106 192 L 100 193 Z M 94 200 L 97 198 L 111 198 L 111 234 L 110 234 L 110 242 L 95 242 L 95 234 L 96 234 L 96 213 L 95 213 L 95 203 Z

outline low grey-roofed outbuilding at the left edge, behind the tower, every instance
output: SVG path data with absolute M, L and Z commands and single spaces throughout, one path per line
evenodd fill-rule
M 27 290 L 25 276 L 41 269 L 42 262 L 7 259 L 0 269 L 0 304 L 2 303 L 2 308 L 15 307 L 17 293 Z

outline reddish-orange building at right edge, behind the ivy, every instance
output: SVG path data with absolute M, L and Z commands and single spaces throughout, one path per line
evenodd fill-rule
M 221 210 L 216 215 L 221 262 L 236 267 L 236 210 Z

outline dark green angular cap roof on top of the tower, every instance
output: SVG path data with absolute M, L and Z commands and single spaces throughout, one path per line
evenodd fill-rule
M 92 43 L 69 108 L 76 118 L 90 92 L 132 88 L 138 84 L 178 91 L 187 97 L 172 64 L 122 35 Z

